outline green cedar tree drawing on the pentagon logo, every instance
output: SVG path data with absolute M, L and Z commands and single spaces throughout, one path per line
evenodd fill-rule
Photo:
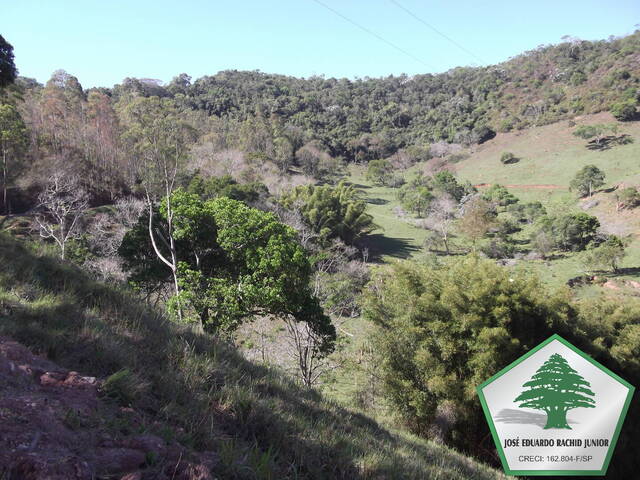
M 591 385 L 569 366 L 559 354 L 554 353 L 538 369 L 531 380 L 523 385 L 529 387 L 515 402 L 523 402 L 520 408 L 535 408 L 547 412 L 544 428 L 568 428 L 567 411 L 584 407 L 594 408 L 595 401 Z

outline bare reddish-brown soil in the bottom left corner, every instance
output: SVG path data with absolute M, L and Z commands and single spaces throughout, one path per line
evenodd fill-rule
M 195 454 L 147 433 L 148 418 L 101 398 L 99 389 L 95 377 L 0 337 L 0 478 L 213 478 L 213 452 Z

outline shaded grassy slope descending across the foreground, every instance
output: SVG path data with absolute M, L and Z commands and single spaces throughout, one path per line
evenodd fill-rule
M 215 451 L 221 478 L 505 478 L 304 390 L 4 234 L 0 265 L 0 334 L 107 379 L 110 401 L 185 446 Z

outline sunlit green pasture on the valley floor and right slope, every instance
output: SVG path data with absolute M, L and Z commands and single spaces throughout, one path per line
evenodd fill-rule
M 576 124 L 610 123 L 608 113 L 577 118 Z M 469 152 L 469 157 L 452 167 L 460 181 L 470 181 L 480 190 L 499 183 L 523 202 L 540 201 L 549 213 L 568 210 L 582 211 L 592 203 L 587 213 L 600 220 L 602 230 L 627 238 L 627 256 L 621 267 L 624 275 L 613 278 L 609 288 L 581 289 L 589 296 L 594 293 L 630 293 L 640 295 L 637 288 L 629 288 L 629 281 L 640 280 L 640 213 L 616 211 L 615 187 L 640 185 L 640 122 L 619 124 L 619 134 L 629 135 L 634 142 L 604 150 L 590 150 L 587 141 L 572 135 L 575 127 L 564 121 L 553 125 L 532 128 L 521 132 L 499 134 L 495 139 Z M 503 165 L 502 152 L 512 152 L 517 163 Z M 593 164 L 606 174 L 606 185 L 592 199 L 579 200 L 569 191 L 569 183 L 578 170 Z M 418 164 L 405 172 L 409 178 L 424 169 Z M 399 207 L 394 188 L 372 185 L 365 178 L 365 168 L 352 166 L 349 181 L 361 188 L 369 203 L 368 211 L 380 229 L 370 240 L 374 258 L 383 262 L 394 259 L 417 260 L 426 252 L 423 242 L 426 231 L 413 225 L 411 216 L 400 218 L 394 213 Z M 526 239 L 525 230 L 520 234 Z M 462 241 L 464 245 L 464 241 Z M 518 268 L 538 274 L 553 287 L 564 285 L 572 277 L 585 273 L 581 254 L 568 253 L 553 261 L 518 261 Z M 635 270 L 634 270 L 635 269 Z M 613 275 L 608 275 L 614 277 Z M 617 287 L 617 289 L 616 289 Z

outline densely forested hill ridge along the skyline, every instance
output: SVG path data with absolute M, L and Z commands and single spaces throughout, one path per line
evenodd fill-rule
M 166 86 L 128 78 L 101 89 L 174 97 L 186 108 L 239 121 L 258 116 L 311 133 L 334 156 L 369 160 L 412 144 L 477 143 L 495 131 L 555 122 L 638 99 L 640 31 L 602 41 L 570 39 L 489 67 L 357 80 L 224 71 Z M 620 108 L 620 106 L 618 106 Z

